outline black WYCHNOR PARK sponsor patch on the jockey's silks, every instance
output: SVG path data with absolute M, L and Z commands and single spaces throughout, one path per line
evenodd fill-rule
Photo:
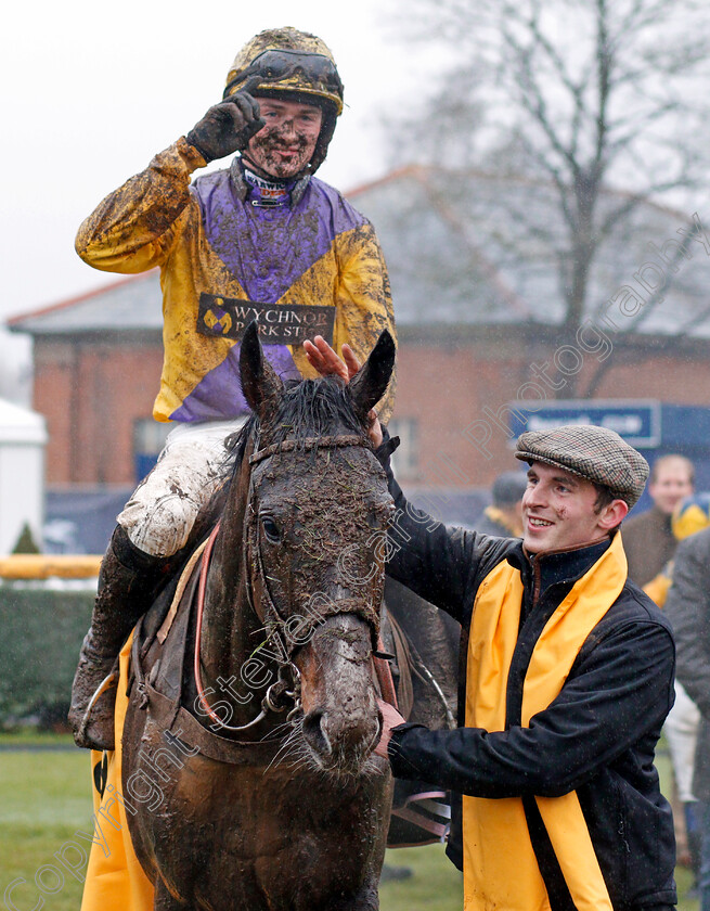
M 197 332 L 218 338 L 237 341 L 249 323 L 257 323 L 264 345 L 300 345 L 306 338 L 322 335 L 333 344 L 335 307 L 318 304 L 258 304 L 235 297 L 199 295 Z

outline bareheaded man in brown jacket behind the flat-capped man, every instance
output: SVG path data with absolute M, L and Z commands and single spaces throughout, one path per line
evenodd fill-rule
M 624 522 L 623 549 L 629 561 L 629 578 L 645 586 L 673 559 L 677 540 L 671 529 L 673 510 L 693 493 L 695 469 L 685 455 L 662 455 L 650 470 L 648 493 L 654 505 Z

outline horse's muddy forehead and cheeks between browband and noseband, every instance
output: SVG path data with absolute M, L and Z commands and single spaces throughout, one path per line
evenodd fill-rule
M 274 455 L 254 483 L 255 548 L 279 615 L 304 617 L 305 629 L 334 614 L 375 626 L 392 500 L 374 455 L 361 447 Z

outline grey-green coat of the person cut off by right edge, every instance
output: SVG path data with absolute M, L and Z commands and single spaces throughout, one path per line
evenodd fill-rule
M 693 794 L 710 800 L 710 528 L 677 547 L 664 613 L 673 625 L 677 679 L 700 709 Z

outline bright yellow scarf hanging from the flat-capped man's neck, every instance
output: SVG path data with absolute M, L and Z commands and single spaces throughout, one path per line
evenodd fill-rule
M 522 689 L 521 723 L 559 694 L 586 638 L 627 580 L 621 535 L 572 587 L 535 643 Z M 518 638 L 522 581 L 507 562 L 483 580 L 468 642 L 466 727 L 505 730 L 507 678 Z M 535 797 L 565 882 L 579 911 L 611 911 L 611 902 L 575 792 Z M 463 798 L 464 907 L 548 911 L 522 800 Z

